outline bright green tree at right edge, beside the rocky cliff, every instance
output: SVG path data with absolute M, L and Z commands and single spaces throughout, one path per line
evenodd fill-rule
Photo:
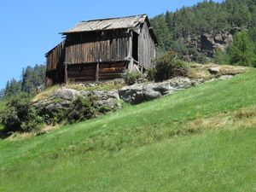
M 248 32 L 239 32 L 230 48 L 230 63 L 241 66 L 256 67 L 255 44 Z

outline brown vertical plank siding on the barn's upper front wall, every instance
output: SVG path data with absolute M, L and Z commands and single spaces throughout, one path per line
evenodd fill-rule
M 82 32 L 67 35 L 67 64 L 124 61 L 128 55 L 126 30 Z

